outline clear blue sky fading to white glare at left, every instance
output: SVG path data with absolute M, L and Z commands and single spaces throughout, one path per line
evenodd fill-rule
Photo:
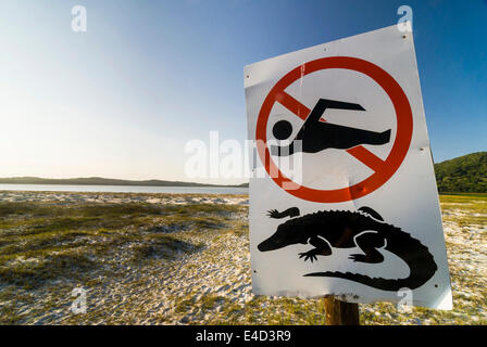
M 392 25 L 402 4 L 435 160 L 487 150 L 486 0 L 1 0 L 0 177 L 187 180 L 188 140 L 244 142 L 245 65 Z

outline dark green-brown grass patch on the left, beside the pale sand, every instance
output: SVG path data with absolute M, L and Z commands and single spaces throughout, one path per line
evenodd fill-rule
M 128 262 L 171 259 L 201 244 L 179 240 L 191 230 L 225 227 L 228 205 L 0 203 L 0 282 L 35 288 L 46 281 L 99 269 L 109 255 L 129 248 Z

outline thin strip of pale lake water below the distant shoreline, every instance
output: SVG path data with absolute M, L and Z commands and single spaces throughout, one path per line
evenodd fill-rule
M 137 187 L 137 185 L 63 185 L 0 184 L 0 191 L 95 192 L 95 193 L 175 193 L 175 194 L 248 194 L 248 188 L 234 187 Z

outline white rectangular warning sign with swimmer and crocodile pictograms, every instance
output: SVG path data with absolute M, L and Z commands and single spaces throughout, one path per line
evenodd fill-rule
M 412 33 L 353 36 L 245 67 L 258 295 L 451 309 Z

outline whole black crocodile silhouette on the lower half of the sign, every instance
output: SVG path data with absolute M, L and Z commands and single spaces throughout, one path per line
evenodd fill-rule
M 272 216 L 271 216 L 272 217 Z M 377 248 L 387 249 L 401 258 L 410 268 L 405 279 L 383 279 L 351 272 L 312 272 L 304 277 L 339 278 L 359 282 L 383 291 L 417 288 L 425 284 L 438 267 L 428 248 L 409 233 L 384 222 L 379 214 L 370 207 L 359 211 L 323 210 L 289 219 L 277 231 L 259 244 L 258 249 L 269 252 L 295 244 L 310 244 L 313 249 L 300 253 L 304 261 L 317 260 L 317 256 L 332 255 L 332 247 L 360 247 L 364 254 L 353 254 L 353 261 L 379 264 L 384 256 Z

